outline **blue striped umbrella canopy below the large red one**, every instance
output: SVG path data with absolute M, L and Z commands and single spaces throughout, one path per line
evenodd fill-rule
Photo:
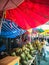
M 18 25 L 9 20 L 3 20 L 0 37 L 15 38 L 16 36 L 24 34 L 26 31 L 22 30 Z

